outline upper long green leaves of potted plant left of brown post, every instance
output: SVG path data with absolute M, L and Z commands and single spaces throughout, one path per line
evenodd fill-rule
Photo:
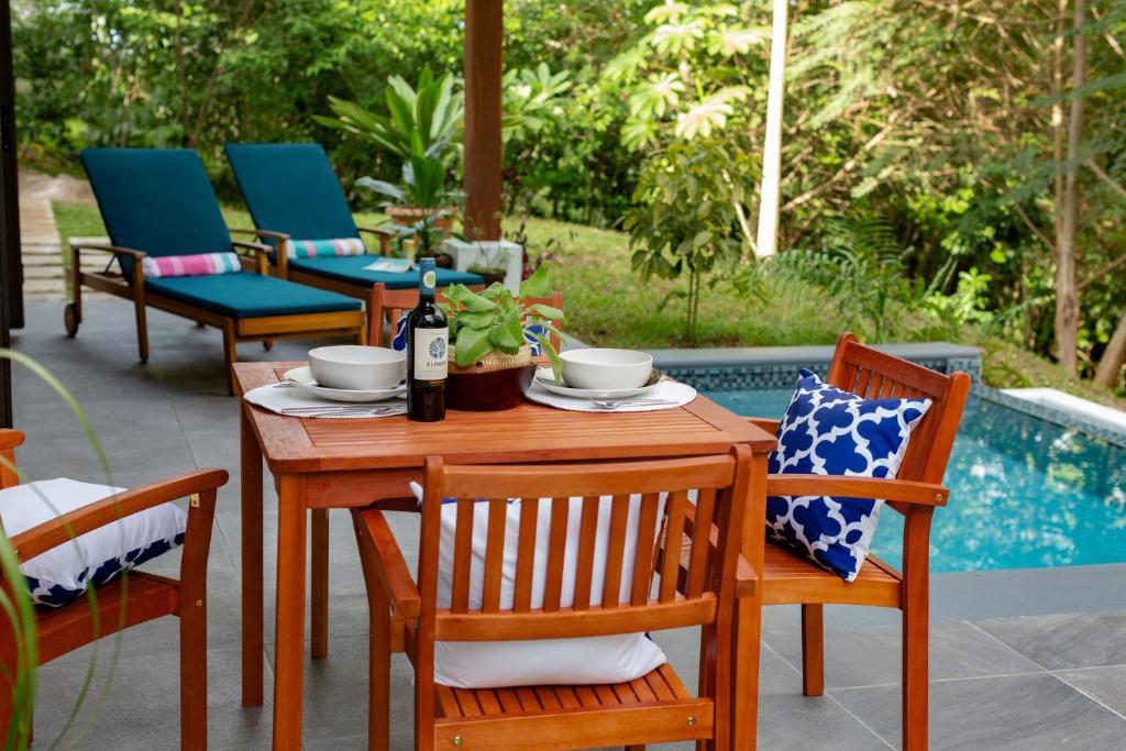
M 376 144 L 409 164 L 412 157 L 440 155 L 453 143 L 465 115 L 465 101 L 454 91 L 454 77 L 435 79 L 429 68 L 417 87 L 399 75 L 387 79 L 386 115 L 373 113 L 355 101 L 329 97 L 336 117 L 315 115 L 321 125 L 345 131 Z

